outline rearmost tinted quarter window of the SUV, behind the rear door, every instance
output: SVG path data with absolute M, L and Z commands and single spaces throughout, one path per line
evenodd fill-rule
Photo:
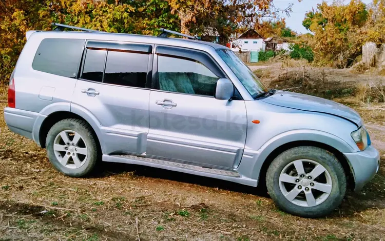
M 79 71 L 84 39 L 45 38 L 37 48 L 34 70 L 75 78 Z

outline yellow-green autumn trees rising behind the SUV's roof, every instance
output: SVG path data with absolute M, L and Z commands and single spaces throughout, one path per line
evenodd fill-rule
M 272 0 L 0 0 L 0 81 L 8 81 L 25 32 L 51 30 L 51 23 L 148 35 L 159 28 L 192 35 L 210 29 L 226 39 L 290 10 L 275 9 Z

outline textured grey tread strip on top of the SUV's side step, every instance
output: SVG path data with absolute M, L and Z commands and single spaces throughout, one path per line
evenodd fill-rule
M 184 168 L 184 169 L 198 171 L 198 172 L 206 172 L 206 173 L 213 173 L 213 174 L 217 174 L 217 175 L 239 177 L 238 172 L 213 169 L 213 168 L 205 168 L 205 167 L 199 167 L 199 166 L 176 163 L 176 162 L 169 162 L 168 160 L 161 160 L 161 159 L 148 158 L 148 157 L 142 157 L 142 156 L 134 156 L 134 155 L 111 155 L 111 156 L 140 160 L 141 162 L 153 163 L 153 164 L 158 164 L 158 165 L 163 165 L 163 166 L 168 166 L 168 167 Z

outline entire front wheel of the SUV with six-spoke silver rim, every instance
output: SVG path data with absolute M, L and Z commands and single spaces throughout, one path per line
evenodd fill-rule
M 298 173 L 296 167 L 303 174 Z M 285 212 L 314 218 L 329 214 L 341 204 L 347 180 L 332 153 L 303 146 L 286 150 L 273 160 L 267 169 L 266 187 L 274 202 Z

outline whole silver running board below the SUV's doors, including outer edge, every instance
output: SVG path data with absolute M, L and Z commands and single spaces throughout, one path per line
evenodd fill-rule
M 242 177 L 238 172 L 226 171 L 214 168 L 199 167 L 190 164 L 182 164 L 134 155 L 103 155 L 104 162 L 136 164 L 142 166 L 162 168 L 170 171 L 184 172 L 194 175 L 213 177 L 248 186 L 257 186 L 257 180 Z

